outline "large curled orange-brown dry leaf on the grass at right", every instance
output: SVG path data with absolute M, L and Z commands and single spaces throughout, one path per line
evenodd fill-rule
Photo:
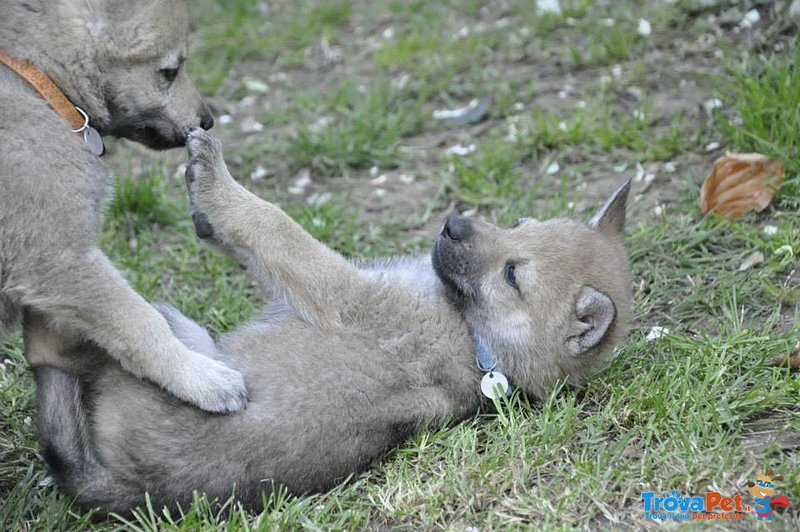
M 700 190 L 703 214 L 714 211 L 735 218 L 763 211 L 781 188 L 786 170 L 777 159 L 760 153 L 731 153 L 714 161 Z

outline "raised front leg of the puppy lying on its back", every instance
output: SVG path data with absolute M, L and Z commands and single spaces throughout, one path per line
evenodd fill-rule
M 341 324 L 347 294 L 363 282 L 356 267 L 236 183 L 218 140 L 196 129 L 187 146 L 186 184 L 198 236 L 228 250 L 264 284 L 274 283 L 306 320 Z

